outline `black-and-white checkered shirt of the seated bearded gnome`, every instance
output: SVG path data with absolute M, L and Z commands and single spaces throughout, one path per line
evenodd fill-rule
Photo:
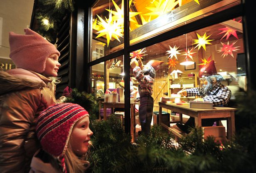
M 208 94 L 200 87 L 186 89 L 186 92 L 187 97 L 204 96 L 204 101 L 212 101 L 214 106 L 227 105 L 231 97 L 230 89 L 221 83 L 216 84 Z

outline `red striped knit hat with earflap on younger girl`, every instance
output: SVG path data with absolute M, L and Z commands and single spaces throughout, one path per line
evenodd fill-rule
M 37 120 L 36 133 L 42 149 L 54 156 L 66 172 L 64 154 L 73 126 L 89 116 L 81 106 L 73 103 L 55 104 L 42 111 Z

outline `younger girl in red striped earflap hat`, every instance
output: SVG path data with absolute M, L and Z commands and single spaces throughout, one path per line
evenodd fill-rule
M 92 131 L 89 114 L 81 106 L 63 103 L 42 111 L 36 125 L 42 149 L 31 162 L 30 173 L 83 173 L 89 162 L 83 158 Z

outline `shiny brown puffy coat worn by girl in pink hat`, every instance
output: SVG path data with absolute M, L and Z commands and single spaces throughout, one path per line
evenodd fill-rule
M 35 123 L 55 104 L 52 80 L 24 69 L 0 71 L 0 173 L 26 173 L 40 147 Z

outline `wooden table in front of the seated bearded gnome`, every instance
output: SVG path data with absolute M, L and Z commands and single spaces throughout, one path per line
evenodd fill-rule
M 162 108 L 167 108 L 173 112 L 179 113 L 179 121 L 182 122 L 182 114 L 189 115 L 195 118 L 195 127 L 202 126 L 202 119 L 205 118 L 226 118 L 227 119 L 227 130 L 228 139 L 235 134 L 235 111 L 236 108 L 228 107 L 214 107 L 213 109 L 202 109 L 202 108 L 189 108 L 189 103 L 184 105 L 176 105 L 176 103 L 162 103 L 159 102 L 159 124 L 167 128 L 174 135 L 181 137 L 174 128 L 168 127 L 162 120 Z

